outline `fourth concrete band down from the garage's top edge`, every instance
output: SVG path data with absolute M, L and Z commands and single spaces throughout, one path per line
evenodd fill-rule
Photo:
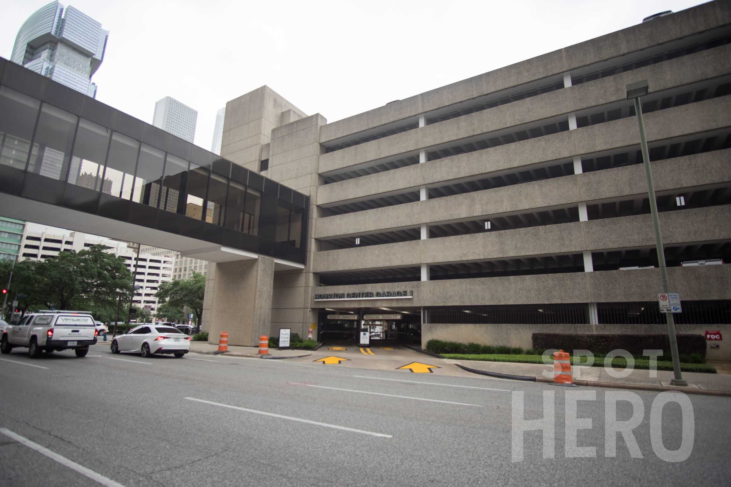
M 656 161 L 652 163 L 655 191 L 662 193 L 727 183 L 731 180 L 730 157 L 731 150 L 726 149 Z M 414 228 L 422 223 L 491 218 L 534 208 L 566 207 L 643 193 L 647 193 L 644 168 L 637 164 L 319 218 L 315 237 L 341 237 Z

